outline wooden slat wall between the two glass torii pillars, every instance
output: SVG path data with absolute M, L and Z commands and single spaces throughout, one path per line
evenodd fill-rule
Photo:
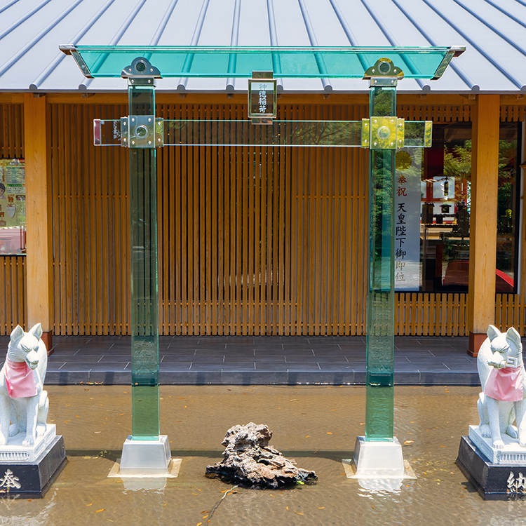
M 280 111 L 287 119 L 365 116 L 365 107 Z M 165 119 L 245 119 L 245 112 L 158 108 Z M 363 333 L 365 151 L 212 146 L 158 153 L 163 334 Z

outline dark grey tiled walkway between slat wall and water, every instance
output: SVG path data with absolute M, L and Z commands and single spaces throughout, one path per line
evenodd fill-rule
M 395 345 L 396 384 L 479 384 L 467 337 Z M 54 336 L 46 384 L 129 384 L 130 346 L 124 336 Z M 365 337 L 161 336 L 159 359 L 161 384 L 365 384 Z

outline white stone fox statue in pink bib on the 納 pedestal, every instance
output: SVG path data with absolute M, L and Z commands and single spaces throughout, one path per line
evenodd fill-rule
M 477 403 L 480 434 L 491 438 L 497 449 L 504 447 L 504 433 L 526 447 L 526 372 L 519 333 L 513 327 L 500 332 L 490 325 L 477 366 L 483 389 Z

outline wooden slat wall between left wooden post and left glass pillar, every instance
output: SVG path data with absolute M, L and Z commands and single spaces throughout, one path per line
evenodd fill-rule
M 128 151 L 93 146 L 126 106 L 51 105 L 55 334 L 128 333 Z

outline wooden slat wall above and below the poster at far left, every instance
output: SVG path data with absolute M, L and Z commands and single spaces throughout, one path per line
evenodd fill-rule
M 0 104 L 0 159 L 24 157 L 22 104 Z M 0 257 L 0 335 L 25 327 L 25 256 Z

